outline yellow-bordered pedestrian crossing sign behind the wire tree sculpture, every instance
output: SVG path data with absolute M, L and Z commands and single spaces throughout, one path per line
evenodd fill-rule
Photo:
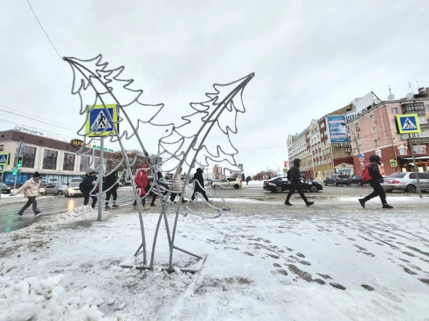
M 107 104 L 106 108 L 104 105 L 88 106 L 85 128 L 87 137 L 116 136 L 114 128 L 119 132 L 116 104 Z

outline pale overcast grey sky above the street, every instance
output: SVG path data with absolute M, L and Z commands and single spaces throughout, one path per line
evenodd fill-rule
M 72 71 L 49 44 L 24 0 L 1 1 L 0 105 L 81 126 Z M 255 174 L 287 159 L 287 135 L 312 118 L 369 91 L 385 99 L 407 82 L 429 87 L 427 1 L 31 1 L 60 55 L 102 53 L 144 89 L 145 103 L 165 103 L 178 121 L 212 83 L 255 72 L 238 115 L 237 162 Z M 0 130 L 26 121 L 0 112 Z M 29 126 L 75 137 L 44 123 Z M 162 132 L 161 132 L 162 134 Z M 158 130 L 146 133 L 156 152 Z M 128 148 L 137 147 L 135 144 Z M 151 150 L 153 149 L 153 150 Z

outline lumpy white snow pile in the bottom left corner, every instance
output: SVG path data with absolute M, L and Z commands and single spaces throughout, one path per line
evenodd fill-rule
M 20 279 L 9 276 L 0 263 L 0 320 L 118 320 L 103 318 L 97 302 L 89 306 L 78 297 L 67 297 L 60 286 L 63 278 L 64 275 L 58 274 L 42 280 L 37 277 Z M 104 301 L 99 302 L 103 304 Z

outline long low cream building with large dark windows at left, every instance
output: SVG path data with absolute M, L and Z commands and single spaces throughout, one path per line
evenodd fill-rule
M 72 178 L 81 177 L 90 167 L 96 168 L 100 164 L 99 150 L 94 150 L 95 157 L 92 160 L 90 155 L 76 155 L 79 148 L 71 143 L 18 130 L 6 130 L 0 132 L 0 153 L 10 154 L 9 164 L 3 173 L 3 183 L 8 185 L 15 181 L 11 170 L 15 166 L 19 141 L 23 141 L 26 146 L 21 154 L 23 162 L 21 173 L 17 175 L 18 185 L 24 184 L 35 171 L 40 173 L 44 182 L 67 184 L 72 182 Z M 112 155 L 106 151 L 104 153 L 106 159 Z

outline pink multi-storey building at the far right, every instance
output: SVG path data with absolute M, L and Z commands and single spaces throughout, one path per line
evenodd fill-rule
M 417 164 L 412 163 L 408 135 L 396 130 L 396 115 L 418 114 L 420 134 L 413 134 L 414 153 Z M 429 166 L 429 95 L 426 90 L 414 98 L 397 101 L 382 101 L 368 107 L 347 123 L 353 147 L 353 164 L 357 173 L 367 164 L 369 156 L 377 154 L 382 158 L 382 174 L 397 171 L 428 171 Z M 363 155 L 363 159 L 358 158 Z M 389 160 L 396 160 L 398 167 L 391 167 Z

